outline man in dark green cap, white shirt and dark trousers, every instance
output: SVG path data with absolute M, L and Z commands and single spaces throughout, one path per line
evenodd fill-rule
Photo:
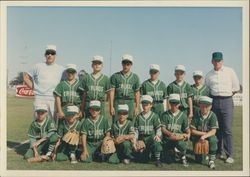
M 226 163 L 233 163 L 233 99 L 232 96 L 240 90 L 237 75 L 232 68 L 223 66 L 223 54 L 212 54 L 213 69 L 206 75 L 206 85 L 213 98 L 212 111 L 217 115 L 219 130 L 217 157 L 223 158 L 223 150 L 227 156 Z

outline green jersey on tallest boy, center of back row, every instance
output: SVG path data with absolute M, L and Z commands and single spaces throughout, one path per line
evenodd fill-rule
M 134 93 L 140 89 L 139 77 L 132 72 L 128 76 L 117 72 L 111 76 L 110 83 L 115 88 L 115 99 L 134 99 Z

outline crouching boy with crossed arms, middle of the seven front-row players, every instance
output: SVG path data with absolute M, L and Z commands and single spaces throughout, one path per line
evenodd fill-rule
M 111 126 L 111 134 L 114 137 L 117 155 L 124 164 L 133 160 L 132 147 L 135 144 L 135 132 L 133 123 L 128 118 L 128 105 L 118 105 L 118 120 Z

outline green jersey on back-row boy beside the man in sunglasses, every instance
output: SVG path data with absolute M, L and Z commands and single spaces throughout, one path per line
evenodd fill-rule
M 80 82 L 76 80 L 70 84 L 67 80 L 61 81 L 54 90 L 54 95 L 61 97 L 62 105 L 80 105 L 82 89 L 79 87 Z

